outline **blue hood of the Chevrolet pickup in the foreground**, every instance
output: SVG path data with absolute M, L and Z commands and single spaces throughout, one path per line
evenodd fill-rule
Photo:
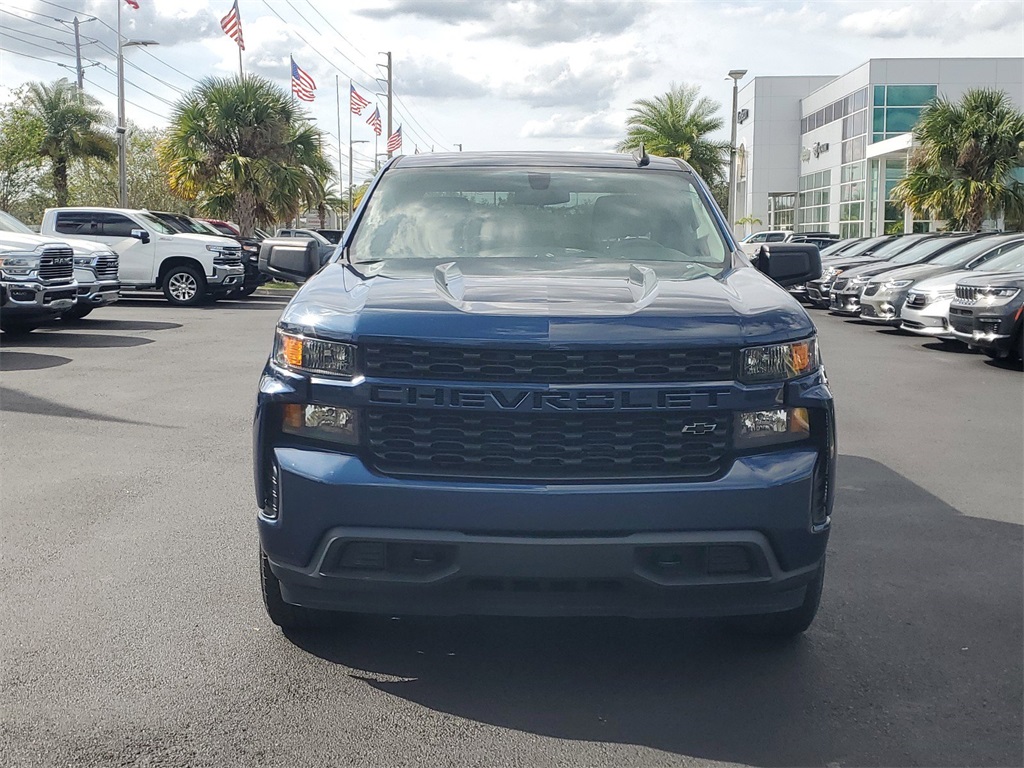
M 282 324 L 340 340 L 741 346 L 810 336 L 786 291 L 751 267 L 710 276 L 668 262 L 416 259 L 328 264 Z M 693 276 L 693 275 L 702 276 Z

